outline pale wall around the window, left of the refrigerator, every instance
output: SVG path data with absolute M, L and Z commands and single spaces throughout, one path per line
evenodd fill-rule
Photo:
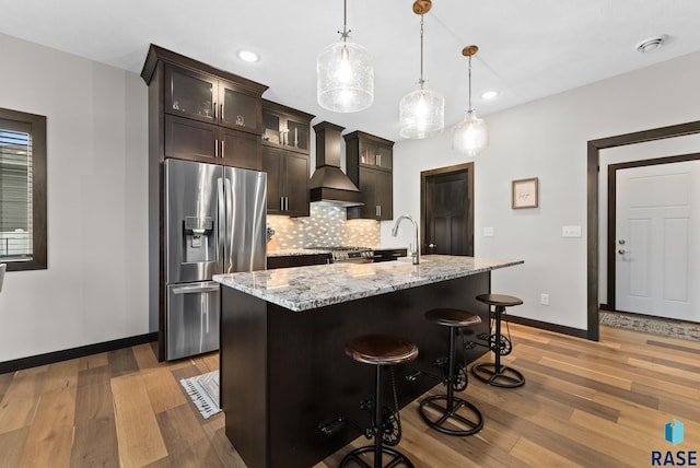
M 0 362 L 149 332 L 145 83 L 5 35 L 0 50 L 0 105 L 45 115 L 48 150 L 48 269 L 5 274 Z

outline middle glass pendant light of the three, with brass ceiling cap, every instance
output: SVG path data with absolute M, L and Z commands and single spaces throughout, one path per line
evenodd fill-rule
M 420 80 L 399 103 L 399 134 L 421 139 L 441 132 L 445 127 L 445 98 L 429 90 L 423 80 L 423 14 L 430 11 L 430 0 L 413 2 L 413 13 L 420 14 Z

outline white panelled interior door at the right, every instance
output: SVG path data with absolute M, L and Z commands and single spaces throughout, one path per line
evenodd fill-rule
M 700 161 L 617 171 L 616 308 L 700 321 Z

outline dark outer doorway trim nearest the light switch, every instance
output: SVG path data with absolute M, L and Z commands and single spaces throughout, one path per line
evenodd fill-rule
M 598 323 L 598 172 L 600 171 L 600 150 L 606 148 L 622 147 L 626 144 L 643 143 L 646 141 L 662 140 L 665 138 L 684 137 L 700 133 L 700 120 L 688 124 L 673 125 L 633 133 L 618 134 L 615 137 L 588 140 L 586 143 L 586 179 L 587 179 L 587 336 L 590 340 L 598 341 L 600 336 Z

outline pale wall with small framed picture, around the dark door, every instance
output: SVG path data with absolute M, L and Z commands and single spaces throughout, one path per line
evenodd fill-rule
M 492 273 L 492 290 L 520 296 L 514 315 L 586 328 L 586 142 L 700 120 L 700 54 L 487 117 L 490 147 L 475 161 L 475 255 L 525 265 Z M 447 103 L 450 105 L 450 103 Z M 394 147 L 394 213 L 420 215 L 420 172 L 459 164 L 450 130 Z M 511 209 L 511 180 L 539 177 L 539 208 Z M 582 226 L 562 238 L 562 225 Z M 483 237 L 483 227 L 493 237 Z M 382 223 L 382 243 L 407 245 Z M 540 305 L 540 293 L 550 305 Z

